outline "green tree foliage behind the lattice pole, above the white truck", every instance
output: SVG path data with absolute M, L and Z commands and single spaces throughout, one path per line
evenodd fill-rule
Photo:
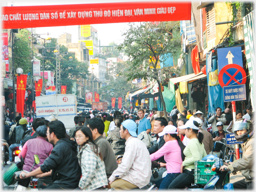
M 88 64 L 84 62 L 79 62 L 74 55 L 73 60 L 70 61 L 70 55 L 63 55 L 64 52 L 68 52 L 68 48 L 64 45 L 59 46 L 59 58 L 54 55 L 53 51 L 57 44 L 57 39 L 52 39 L 51 43 L 46 44 L 46 49 L 44 49 L 44 70 L 50 70 L 54 72 L 54 81 L 56 80 L 56 60 L 60 61 L 60 84 L 67 86 L 67 94 L 72 94 L 73 82 L 78 78 L 85 78 L 88 74 Z M 49 48 L 52 47 L 52 48 Z M 42 51 L 42 50 L 41 50 Z M 41 52 L 42 54 L 42 52 Z M 40 58 L 43 60 L 42 58 Z M 42 62 L 41 62 L 42 63 Z M 41 71 L 43 71 L 43 65 L 41 65 Z

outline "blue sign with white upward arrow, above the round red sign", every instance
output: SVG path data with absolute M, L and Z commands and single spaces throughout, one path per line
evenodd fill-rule
M 218 71 L 228 64 L 237 64 L 243 67 L 242 48 L 227 47 L 217 49 L 218 54 Z

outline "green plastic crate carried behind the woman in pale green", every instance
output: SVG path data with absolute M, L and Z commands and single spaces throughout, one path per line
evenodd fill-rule
M 211 170 L 214 161 L 195 161 L 194 169 L 194 183 L 205 185 L 208 183 L 210 178 L 216 173 Z M 223 181 L 223 185 L 229 183 L 229 174 L 226 175 L 226 180 Z

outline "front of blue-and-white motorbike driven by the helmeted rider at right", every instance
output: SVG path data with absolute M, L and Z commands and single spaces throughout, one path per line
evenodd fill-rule
M 220 171 L 220 167 L 223 165 L 229 165 L 227 162 L 220 159 L 219 161 L 214 162 L 211 167 L 211 170 L 216 172 L 204 186 L 204 190 L 223 190 L 223 181 L 226 179 L 227 174 L 229 173 L 228 169 L 225 168 L 225 171 Z

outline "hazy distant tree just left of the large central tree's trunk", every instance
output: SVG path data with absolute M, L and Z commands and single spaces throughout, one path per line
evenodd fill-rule
M 110 83 L 98 90 L 100 94 L 105 94 L 106 100 L 111 100 L 111 97 L 123 97 L 134 89 L 134 85 L 127 81 L 127 77 L 120 75 L 123 70 L 123 62 L 113 63 L 108 69 L 105 77 Z

